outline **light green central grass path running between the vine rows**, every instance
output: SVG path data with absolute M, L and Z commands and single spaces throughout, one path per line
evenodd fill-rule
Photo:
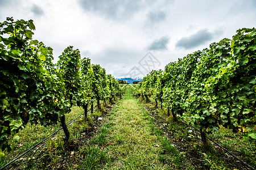
M 160 141 L 151 134 L 148 118 L 136 100 L 125 96 L 113 118 L 110 139 L 115 145 L 108 148 L 113 163 L 106 169 L 164 169 L 158 161 Z

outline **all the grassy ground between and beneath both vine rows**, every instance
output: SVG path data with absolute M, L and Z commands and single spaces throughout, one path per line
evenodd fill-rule
M 68 126 L 71 132 L 68 148 L 60 131 L 44 145 L 18 160 L 15 163 L 18 166 L 14 169 L 197 169 L 197 162 L 193 164 L 193 161 L 189 161 L 194 153 L 201 166 L 207 165 L 208 169 L 234 169 L 234 164 L 226 162 L 225 156 L 218 156 L 214 146 L 211 150 L 205 150 L 198 134 L 188 134 L 188 130 L 192 129 L 174 122 L 165 109 L 134 99 L 131 92 L 133 85 L 128 84 L 124 88 L 125 96 L 107 113 L 108 117 L 102 120 L 104 123 L 99 128 L 96 128 L 98 125 L 94 124 L 94 120 L 102 117 L 104 107 L 94 110 L 93 114 L 89 112 L 88 122 L 82 116 Z M 149 114 L 145 106 L 154 114 Z M 67 122 L 82 112 L 81 108 L 73 107 L 72 112 L 67 113 Z M 159 118 L 164 122 L 156 124 Z M 18 143 L 13 143 L 14 150 L 6 154 L 6 159 L 0 165 L 34 146 L 59 127 L 28 124 L 20 131 Z M 92 137 L 89 141 L 82 141 L 82 137 L 88 135 L 88 129 L 95 129 Z M 168 135 L 163 133 L 164 129 Z M 255 142 L 243 141 L 241 133 L 234 134 L 225 128 L 209 136 L 255 167 Z M 189 157 L 191 150 L 192 157 Z

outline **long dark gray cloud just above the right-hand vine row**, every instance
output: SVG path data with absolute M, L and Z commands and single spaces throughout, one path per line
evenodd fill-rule
M 222 35 L 223 32 L 224 31 L 222 28 L 218 28 L 214 32 L 209 32 L 208 29 L 201 29 L 200 31 L 196 32 L 191 36 L 182 37 L 180 40 L 177 41 L 176 47 L 185 49 L 194 48 L 212 40 L 214 36 Z

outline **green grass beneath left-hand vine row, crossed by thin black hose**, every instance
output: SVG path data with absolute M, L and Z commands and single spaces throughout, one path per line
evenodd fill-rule
M 90 106 L 88 109 L 89 108 Z M 75 122 L 68 125 L 68 129 L 71 134 L 70 141 L 76 141 L 82 132 L 90 126 L 93 126 L 93 120 L 101 116 L 102 111 L 104 111 L 104 108 L 102 108 L 101 111 L 98 111 L 95 108 L 93 114 L 91 114 L 90 111 L 88 112 L 87 122 L 85 122 L 84 116 L 82 115 Z M 66 123 L 73 120 L 83 112 L 84 110 L 81 107 L 72 107 L 71 112 L 65 114 Z M 11 160 L 16 158 L 16 156 L 19 156 L 24 151 L 30 149 L 32 146 L 48 137 L 48 135 L 52 134 L 59 128 L 61 128 L 60 124 L 45 127 L 40 124 L 31 125 L 28 123 L 24 129 L 19 131 L 19 141 L 10 143 L 13 150 L 10 152 L 5 151 L 5 157 L 0 160 L 0 167 L 3 167 L 3 165 L 9 163 Z M 24 167 L 24 169 L 27 169 L 26 167 L 30 167 L 30 165 L 27 165 L 27 161 L 31 159 L 32 162 L 35 160 L 34 166 L 30 167 L 31 169 L 42 169 L 45 162 L 52 162 L 52 164 L 55 164 L 58 156 L 63 154 L 66 150 L 65 143 L 63 142 L 63 135 L 63 131 L 60 130 L 56 135 L 53 135 L 51 138 L 47 139 L 46 142 L 35 147 L 32 151 L 28 152 L 13 164 L 19 164 L 19 167 Z

